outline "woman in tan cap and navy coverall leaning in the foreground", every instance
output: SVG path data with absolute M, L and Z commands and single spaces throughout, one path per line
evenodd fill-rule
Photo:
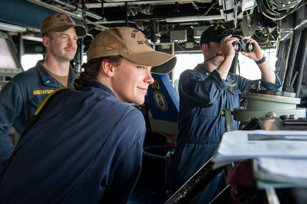
M 128 202 L 146 128 L 126 102 L 142 104 L 151 72 L 168 73 L 177 59 L 126 27 L 99 33 L 86 54 L 75 89 L 54 96 L 17 145 L 0 183 L 4 203 Z

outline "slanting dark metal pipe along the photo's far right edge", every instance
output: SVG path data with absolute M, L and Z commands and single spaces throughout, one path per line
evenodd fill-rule
M 304 29 L 302 34 L 301 34 L 301 40 L 303 40 L 301 44 L 301 52 L 300 52 L 300 59 L 299 65 L 298 65 L 298 75 L 297 78 L 294 82 L 294 92 L 296 93 L 297 98 L 300 97 L 300 92 L 301 92 L 301 85 L 302 85 L 302 80 L 303 80 L 303 75 L 304 75 L 304 70 L 305 70 L 305 62 L 306 62 L 306 55 L 307 55 L 307 29 Z

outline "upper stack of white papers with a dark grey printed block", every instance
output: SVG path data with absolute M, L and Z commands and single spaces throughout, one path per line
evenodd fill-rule
M 212 159 L 214 168 L 256 157 L 307 158 L 307 131 L 226 132 Z

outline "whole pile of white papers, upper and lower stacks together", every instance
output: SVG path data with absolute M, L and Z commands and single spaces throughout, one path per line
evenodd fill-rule
M 226 132 L 212 159 L 218 168 L 254 159 L 258 187 L 307 187 L 307 131 Z

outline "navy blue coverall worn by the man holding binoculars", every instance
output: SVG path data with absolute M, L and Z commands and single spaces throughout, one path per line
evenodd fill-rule
M 276 74 L 275 74 L 276 75 Z M 241 79 L 241 80 L 240 80 Z M 260 80 L 260 79 L 259 79 Z M 223 80 L 218 70 L 210 72 L 202 64 L 185 70 L 179 78 L 178 134 L 174 154 L 170 157 L 166 181 L 175 193 L 212 156 L 225 131 L 225 108 L 240 107 L 241 93 L 259 80 L 249 80 L 228 73 Z M 276 75 L 275 84 L 261 79 L 268 90 L 278 90 L 281 82 Z M 239 122 L 233 120 L 234 130 Z M 214 178 L 191 203 L 209 203 L 221 190 L 222 173 Z

